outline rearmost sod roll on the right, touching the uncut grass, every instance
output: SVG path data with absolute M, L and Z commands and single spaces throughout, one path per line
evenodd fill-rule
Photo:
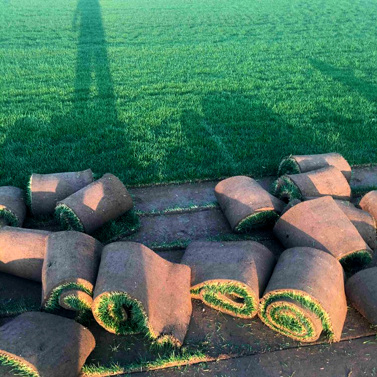
M 339 153 L 284 157 L 279 163 L 278 175 L 306 173 L 327 166 L 335 166 L 342 172 L 348 182 L 351 180 L 351 167 L 346 159 Z

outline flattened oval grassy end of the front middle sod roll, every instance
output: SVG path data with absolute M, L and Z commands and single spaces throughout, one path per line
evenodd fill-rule
M 204 282 L 203 284 L 192 288 L 190 292 L 192 298 L 202 300 L 206 305 L 234 317 L 253 318 L 258 310 L 258 305 L 253 297 L 252 291 L 244 284 L 240 284 L 235 281 L 211 283 Z M 223 295 L 235 294 L 242 298 L 244 303 L 242 306 L 233 305 L 231 301 L 227 301 L 219 297 L 218 293 Z

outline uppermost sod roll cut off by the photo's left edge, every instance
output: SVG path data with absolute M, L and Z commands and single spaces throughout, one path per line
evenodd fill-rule
M 26 216 L 25 191 L 14 186 L 0 187 L 0 227 L 22 227 Z

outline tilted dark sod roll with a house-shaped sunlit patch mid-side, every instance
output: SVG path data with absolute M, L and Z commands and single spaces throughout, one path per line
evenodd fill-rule
M 58 202 L 55 214 L 63 229 L 90 234 L 132 207 L 125 185 L 115 175 L 105 174 Z

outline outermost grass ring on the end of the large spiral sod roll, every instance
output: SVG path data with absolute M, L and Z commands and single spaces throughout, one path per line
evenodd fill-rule
M 308 295 L 306 292 L 299 292 L 296 290 L 277 290 L 267 293 L 266 296 L 263 296 L 260 300 L 259 304 L 259 311 L 258 315 L 259 318 L 262 320 L 263 323 L 265 323 L 268 327 L 270 327 L 272 330 L 279 332 L 282 335 L 289 336 L 290 338 L 296 339 L 298 341 L 305 340 L 308 338 L 308 336 L 303 336 L 301 338 L 295 337 L 292 335 L 289 330 L 287 331 L 283 330 L 282 328 L 279 328 L 275 326 L 266 316 L 266 309 L 268 305 L 276 300 L 276 299 L 291 299 L 294 301 L 297 301 L 299 304 L 304 306 L 306 309 L 310 310 L 312 313 L 318 315 L 318 317 L 322 321 L 322 327 L 323 332 L 325 333 L 326 337 L 332 341 L 334 340 L 334 332 L 332 330 L 331 320 L 329 315 L 326 313 L 326 311 L 323 309 L 322 305 L 315 300 L 313 297 Z

